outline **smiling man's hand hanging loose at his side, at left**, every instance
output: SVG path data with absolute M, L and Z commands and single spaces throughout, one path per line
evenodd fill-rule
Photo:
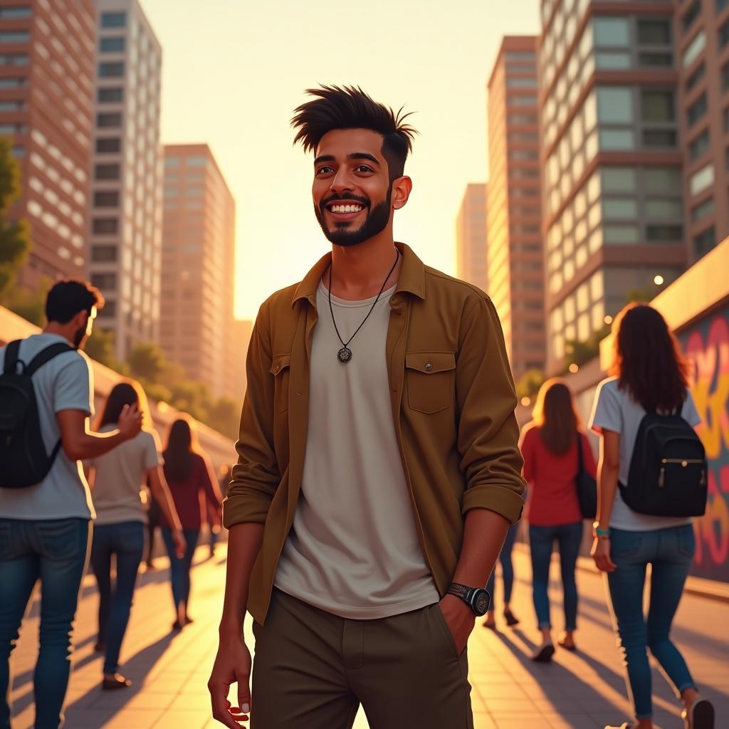
M 220 636 L 208 690 L 213 705 L 213 718 L 229 729 L 240 729 L 251 710 L 251 652 L 243 636 Z M 238 706 L 230 706 L 227 700 L 230 685 L 238 684 Z

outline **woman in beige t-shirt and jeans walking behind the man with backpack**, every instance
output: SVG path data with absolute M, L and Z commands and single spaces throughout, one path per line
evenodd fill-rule
M 91 568 L 99 592 L 98 639 L 94 650 L 104 652 L 104 689 L 131 685 L 119 671 L 119 654 L 129 621 L 137 571 L 144 554 L 147 512 L 142 501 L 145 480 L 168 523 L 174 524 L 172 538 L 176 553 L 184 555 L 182 526 L 162 472 L 157 434 L 149 422 L 144 391 L 133 381 L 117 383 L 109 393 L 97 430 L 117 428 L 123 408 L 137 408 L 147 419 L 145 429 L 103 456 L 85 461 L 96 510 Z M 143 421 L 144 422 L 144 421 Z M 116 580 L 112 587 L 112 556 Z

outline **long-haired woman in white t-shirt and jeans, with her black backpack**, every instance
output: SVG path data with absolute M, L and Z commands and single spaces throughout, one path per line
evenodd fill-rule
M 636 717 L 619 729 L 653 727 L 647 649 L 684 703 L 685 727 L 713 729 L 714 707 L 700 697 L 670 637 L 695 551 L 691 517 L 706 507 L 706 459 L 693 429 L 701 418 L 688 389 L 689 367 L 650 305 L 625 307 L 613 335 L 612 377 L 598 387 L 590 426 L 601 437 L 592 556 L 607 575 Z

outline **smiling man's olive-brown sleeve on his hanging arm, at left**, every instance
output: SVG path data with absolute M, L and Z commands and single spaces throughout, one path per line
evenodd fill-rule
M 270 328 L 264 304 L 257 316 L 246 358 L 248 388 L 235 450 L 238 463 L 223 501 L 223 524 L 264 523 L 281 482 L 273 447 L 273 375 Z

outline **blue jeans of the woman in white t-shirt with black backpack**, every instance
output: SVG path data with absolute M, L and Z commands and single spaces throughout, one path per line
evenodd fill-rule
M 610 530 L 610 557 L 617 569 L 607 574 L 615 631 L 628 668 L 628 692 L 636 718 L 652 715 L 650 665 L 646 648 L 660 663 L 677 695 L 695 688 L 688 666 L 668 634 L 679 607 L 696 548 L 692 526 L 655 531 Z M 643 615 L 646 566 L 652 565 L 650 607 Z

